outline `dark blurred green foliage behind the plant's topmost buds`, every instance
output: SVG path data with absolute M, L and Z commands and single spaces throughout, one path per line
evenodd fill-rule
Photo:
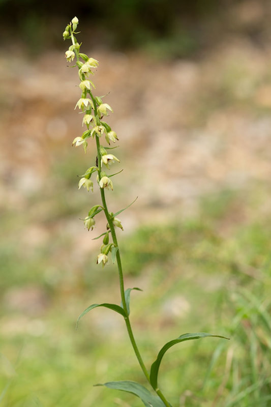
M 90 43 L 98 41 L 118 49 L 154 46 L 155 53 L 162 51 L 166 56 L 180 56 L 198 49 L 202 44 L 201 21 L 219 14 L 226 3 L 229 2 L 0 0 L 0 13 L 7 38 L 20 38 L 32 52 L 59 46 L 59 27 L 65 26 L 76 15 L 81 30 L 89 30 Z M 48 25 L 50 32 L 46 30 Z

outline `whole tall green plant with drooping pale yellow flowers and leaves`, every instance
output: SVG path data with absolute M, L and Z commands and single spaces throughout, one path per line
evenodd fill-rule
M 73 60 L 76 61 L 75 67 L 78 68 L 80 80 L 79 88 L 81 90 L 81 97 L 77 101 L 75 109 L 78 107 L 83 113 L 83 125 L 86 126 L 86 130 L 83 131 L 81 136 L 75 137 L 72 144 L 75 147 L 82 146 L 84 152 L 86 153 L 89 139 L 93 139 L 93 141 L 95 139 L 97 149 L 96 165 L 86 169 L 84 175 L 81 176 L 78 187 L 84 187 L 87 191 L 93 191 L 94 182 L 92 178 L 96 178 L 97 187 L 99 188 L 101 194 L 101 203 L 94 205 L 91 210 L 89 210 L 88 215 L 84 218 L 84 226 L 88 230 L 93 230 L 95 226 L 95 216 L 103 211 L 107 220 L 107 226 L 104 233 L 98 237 L 103 238 L 103 243 L 101 245 L 100 253 L 97 256 L 97 264 L 104 267 L 108 263 L 109 257 L 111 256 L 112 263 L 116 263 L 117 265 L 119 289 L 121 293 L 121 305 L 109 303 L 92 304 L 79 315 L 77 325 L 83 315 L 96 307 L 106 307 L 121 314 L 124 317 L 127 332 L 141 370 L 145 375 L 147 382 L 154 389 L 156 395 L 150 393 L 141 384 L 132 381 L 107 382 L 104 385 L 109 388 L 123 390 L 135 394 L 147 407 L 171 407 L 171 404 L 158 386 L 158 371 L 165 352 L 174 344 L 186 340 L 198 339 L 206 336 L 222 336 L 211 335 L 204 332 L 180 335 L 178 338 L 167 342 L 161 348 L 157 359 L 150 368 L 150 371 L 148 371 L 143 362 L 129 318 L 131 290 L 139 288 L 134 287 L 125 289 L 121 252 L 119 250 L 116 236 L 116 228 L 121 228 L 123 230 L 122 222 L 116 216 L 127 208 L 122 209 L 115 214 L 110 212 L 107 207 L 105 194 L 105 190 L 113 191 L 113 182 L 111 178 L 118 173 L 110 174 L 107 172 L 107 170 L 110 170 L 110 166 L 113 165 L 114 162 L 119 162 L 119 159 L 110 153 L 110 150 L 115 148 L 111 147 L 111 143 L 115 143 L 115 141 L 118 140 L 117 134 L 105 121 L 105 118 L 109 112 L 113 111 L 113 109 L 111 106 L 109 106 L 109 104 L 104 103 L 103 97 L 94 96 L 93 94 L 95 84 L 90 78 L 92 75 L 94 75 L 94 71 L 98 68 L 99 63 L 94 58 L 88 57 L 86 54 L 80 52 L 81 44 L 79 44 L 75 38 L 75 35 L 78 34 L 76 32 L 77 25 L 78 19 L 77 17 L 74 17 L 66 26 L 63 33 L 64 40 L 70 39 L 72 42 L 71 46 L 66 51 L 66 59 L 68 62 L 72 62 Z

